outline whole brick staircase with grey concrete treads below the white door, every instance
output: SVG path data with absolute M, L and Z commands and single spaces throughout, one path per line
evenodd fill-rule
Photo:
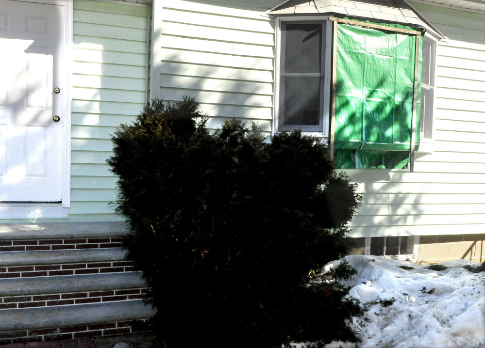
M 149 330 L 126 233 L 120 222 L 0 225 L 0 345 Z

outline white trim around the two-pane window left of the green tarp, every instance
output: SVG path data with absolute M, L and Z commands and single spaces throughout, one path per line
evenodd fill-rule
M 329 33 L 332 32 L 332 22 L 326 21 L 330 16 L 281 16 L 277 17 L 275 20 L 275 63 L 274 63 L 274 88 L 273 88 L 273 95 L 274 95 L 274 103 L 273 103 L 273 134 L 278 133 L 279 131 L 285 130 L 285 129 L 279 129 L 279 109 L 280 109 L 280 63 L 281 63 L 281 47 L 282 47 L 282 42 L 281 42 L 281 27 L 282 27 L 282 22 L 285 21 L 305 21 L 305 22 L 310 22 L 310 21 L 319 21 L 322 23 L 326 23 L 327 28 L 326 28 L 326 50 L 325 50 L 325 56 L 322 58 L 325 60 L 325 67 L 324 67 L 324 78 L 323 78 L 323 91 L 320 93 L 323 93 L 323 124 L 322 124 L 322 130 L 318 131 L 311 131 L 311 130 L 305 130 L 302 127 L 302 133 L 305 135 L 316 135 L 318 137 L 323 137 L 323 138 L 328 138 L 328 124 L 329 124 L 329 119 L 330 119 L 330 92 L 331 92 L 331 60 L 332 60 L 332 50 L 329 49 L 329 47 L 332 46 L 332 35 Z M 322 99 L 322 96 L 320 95 L 320 100 Z M 315 127 L 315 126 L 313 126 Z

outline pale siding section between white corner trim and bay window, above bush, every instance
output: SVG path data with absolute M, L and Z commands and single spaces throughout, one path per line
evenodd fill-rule
M 209 128 L 236 117 L 271 131 L 274 21 L 257 3 L 163 0 L 158 96 L 195 97 Z

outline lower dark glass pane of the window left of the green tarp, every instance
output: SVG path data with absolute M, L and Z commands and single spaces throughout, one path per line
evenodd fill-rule
M 284 83 L 284 125 L 318 125 L 320 78 L 287 77 Z

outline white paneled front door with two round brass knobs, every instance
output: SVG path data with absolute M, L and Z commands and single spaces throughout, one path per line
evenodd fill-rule
M 64 6 L 0 0 L 0 202 L 62 200 L 63 39 Z

